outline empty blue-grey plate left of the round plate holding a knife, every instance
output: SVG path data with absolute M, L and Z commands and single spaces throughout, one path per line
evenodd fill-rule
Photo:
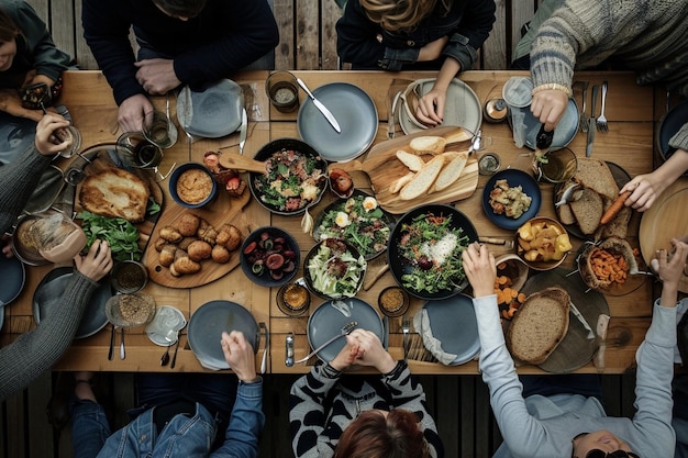
M 177 119 L 191 135 L 218 138 L 240 127 L 243 107 L 242 88 L 231 79 L 199 90 L 185 86 L 177 96 Z

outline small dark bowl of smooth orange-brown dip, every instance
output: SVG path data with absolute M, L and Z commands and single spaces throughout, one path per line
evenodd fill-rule
M 179 205 L 199 209 L 215 198 L 218 182 L 206 166 L 186 163 L 178 166 L 169 177 L 169 193 Z

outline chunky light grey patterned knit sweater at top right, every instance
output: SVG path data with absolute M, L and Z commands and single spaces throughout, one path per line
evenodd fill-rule
M 569 0 L 540 27 L 531 48 L 535 87 L 572 87 L 575 69 L 609 57 L 688 97 L 688 0 Z M 688 123 L 669 145 L 688 150 Z

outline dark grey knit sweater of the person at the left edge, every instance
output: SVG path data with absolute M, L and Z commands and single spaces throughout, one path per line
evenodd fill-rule
M 7 232 L 16 221 L 31 192 L 41 178 L 41 170 L 51 158 L 33 147 L 13 163 L 0 167 L 0 231 Z M 0 287 L 2 286 L 0 280 Z M 79 327 L 81 315 L 98 284 L 75 269 L 60 304 L 55 313 L 35 329 L 22 334 L 10 345 L 0 348 L 0 401 L 14 395 L 33 380 L 49 370 L 67 350 Z M 8 305 L 12 306 L 12 305 Z M 4 313 L 4 310 L 0 310 Z

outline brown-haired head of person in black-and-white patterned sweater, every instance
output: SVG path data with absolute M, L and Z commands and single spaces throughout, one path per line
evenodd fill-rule
M 334 458 L 428 458 L 418 416 L 404 410 L 363 412 L 342 433 Z

